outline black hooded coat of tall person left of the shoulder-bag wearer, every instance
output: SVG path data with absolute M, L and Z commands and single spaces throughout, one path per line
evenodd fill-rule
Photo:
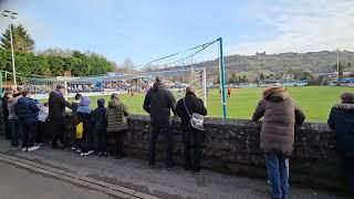
M 170 111 L 176 115 L 176 100 L 170 91 L 155 83 L 145 96 L 143 108 L 150 114 L 153 126 L 168 126 Z

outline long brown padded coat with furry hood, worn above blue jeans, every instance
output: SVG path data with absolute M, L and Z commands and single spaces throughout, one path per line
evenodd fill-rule
M 290 156 L 294 145 L 294 127 L 304 122 L 305 116 L 282 87 L 266 90 L 252 121 L 263 118 L 260 135 L 261 150 Z

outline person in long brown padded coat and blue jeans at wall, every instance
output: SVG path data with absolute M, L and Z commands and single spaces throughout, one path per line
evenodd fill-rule
M 261 150 L 266 153 L 268 178 L 272 197 L 289 198 L 289 157 L 293 151 L 294 127 L 305 116 L 281 84 L 268 86 L 252 121 L 263 118 L 260 135 Z

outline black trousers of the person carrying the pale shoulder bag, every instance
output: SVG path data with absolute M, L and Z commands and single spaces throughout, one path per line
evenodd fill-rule
M 201 144 L 204 142 L 204 132 L 195 128 L 184 130 L 186 169 L 200 171 Z

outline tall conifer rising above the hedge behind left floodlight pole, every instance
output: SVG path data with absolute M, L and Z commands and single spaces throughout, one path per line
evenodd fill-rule
M 13 39 L 13 50 L 20 52 L 33 52 L 34 51 L 34 40 L 30 36 L 28 31 L 22 24 L 12 27 L 12 39 Z M 10 28 L 10 27 L 9 27 Z M 2 36 L 0 38 L 1 49 L 11 50 L 11 35 L 10 29 L 7 29 Z

